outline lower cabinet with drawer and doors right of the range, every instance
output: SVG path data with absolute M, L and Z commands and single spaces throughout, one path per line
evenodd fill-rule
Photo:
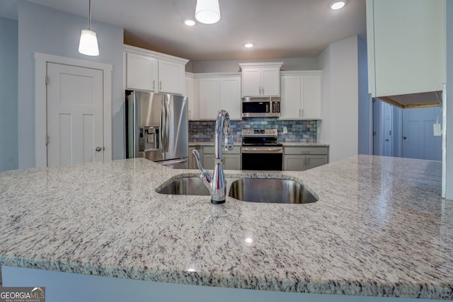
M 283 156 L 286 171 L 303 171 L 328 163 L 327 146 L 285 146 Z

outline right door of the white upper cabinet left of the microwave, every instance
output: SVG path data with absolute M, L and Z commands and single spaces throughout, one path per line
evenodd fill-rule
M 230 120 L 241 120 L 241 77 L 225 77 L 219 81 L 219 109 L 228 111 Z

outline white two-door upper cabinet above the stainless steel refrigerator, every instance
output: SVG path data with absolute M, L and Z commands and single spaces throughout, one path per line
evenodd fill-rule
M 184 94 L 187 59 L 124 45 L 126 89 Z

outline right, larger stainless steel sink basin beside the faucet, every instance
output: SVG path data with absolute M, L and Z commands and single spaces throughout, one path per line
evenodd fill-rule
M 234 180 L 229 197 L 243 202 L 273 202 L 279 204 L 307 204 L 318 199 L 294 180 L 275 178 L 241 178 Z

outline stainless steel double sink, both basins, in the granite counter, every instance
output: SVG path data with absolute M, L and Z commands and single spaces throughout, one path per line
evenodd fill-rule
M 210 192 L 197 177 L 181 177 L 169 182 L 156 192 L 177 195 L 204 195 Z M 315 194 L 302 183 L 281 178 L 226 178 L 229 197 L 243 202 L 267 202 L 279 204 L 306 204 L 316 202 Z

